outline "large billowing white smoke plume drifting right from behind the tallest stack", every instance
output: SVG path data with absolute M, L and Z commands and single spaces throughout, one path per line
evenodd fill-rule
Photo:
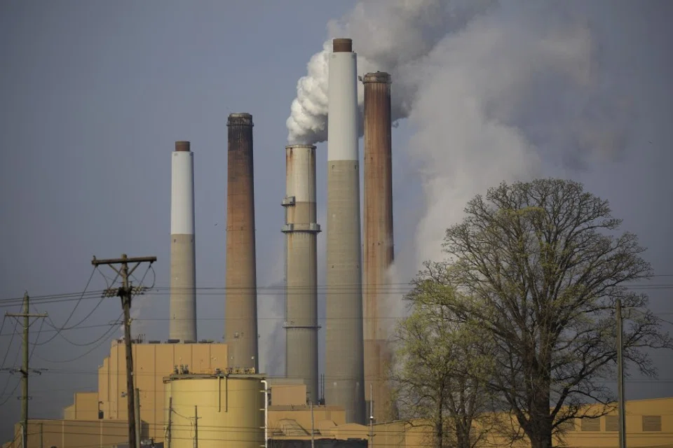
M 414 253 L 395 255 L 391 281 L 407 282 L 423 260 L 442 258 L 444 230 L 489 186 L 580 169 L 623 150 L 630 98 L 609 76 L 610 39 L 592 27 L 610 10 L 603 4 L 362 0 L 328 24 L 329 40 L 297 83 L 288 140 L 327 138 L 332 38 L 353 38 L 359 75 L 391 73 L 393 120 L 412 127 L 406 151 L 423 194 Z M 393 146 L 400 156 L 404 148 Z

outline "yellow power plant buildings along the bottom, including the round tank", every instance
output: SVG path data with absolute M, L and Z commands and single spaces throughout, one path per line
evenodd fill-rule
M 232 370 L 226 344 L 135 341 L 132 344 L 135 386 L 140 389 L 141 439 L 170 442 L 165 448 L 259 447 L 264 445 L 264 375 Z M 62 420 L 30 420 L 27 448 L 97 448 L 128 442 L 125 347 L 112 343 L 98 368 L 98 390 L 74 395 Z M 394 421 L 370 428 L 346 423 L 344 409 L 306 405 L 306 385 L 287 379 L 268 380 L 266 433 L 269 439 L 367 440 L 375 447 L 416 448 L 430 445 L 430 428 L 422 422 Z M 673 398 L 627 402 L 629 447 L 673 448 Z M 373 429 L 373 431 L 372 431 Z M 559 446 L 618 447 L 616 414 L 577 420 L 566 426 Z M 373 433 L 373 435 L 372 435 Z M 14 442 L 20 447 L 20 425 Z M 526 447 L 522 440 L 516 446 Z M 487 435 L 480 446 L 510 445 Z M 475 447 L 476 448 L 476 447 Z

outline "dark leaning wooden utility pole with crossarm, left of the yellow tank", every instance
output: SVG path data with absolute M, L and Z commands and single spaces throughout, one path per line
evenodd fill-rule
M 120 288 L 109 288 L 105 291 L 104 297 L 121 297 L 121 307 L 124 310 L 124 344 L 126 346 L 126 400 L 128 405 L 128 446 L 135 448 L 136 438 L 140 440 L 140 434 L 136 433 L 135 422 L 135 386 L 133 384 L 133 353 L 131 348 L 131 297 L 134 294 L 141 293 L 142 286 L 132 287 L 128 277 L 140 266 L 140 263 L 149 262 L 152 264 L 156 257 L 135 257 L 128 258 L 125 253 L 121 258 L 109 258 L 107 260 L 97 260 L 93 257 L 91 264 L 98 267 L 108 265 L 121 276 L 122 286 Z M 135 263 L 135 266 L 128 268 L 128 263 Z M 117 267 L 116 265 L 119 265 Z

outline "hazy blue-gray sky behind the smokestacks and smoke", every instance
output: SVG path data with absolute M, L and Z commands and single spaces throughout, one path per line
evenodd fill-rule
M 282 372 L 278 344 L 271 350 L 265 344 L 282 321 L 281 296 L 264 287 L 282 279 L 285 120 L 297 80 L 327 38 L 327 21 L 348 13 L 354 3 L 1 2 L 0 223 L 5 243 L 0 298 L 20 297 L 24 290 L 32 296 L 81 291 L 92 255 L 107 258 L 124 252 L 156 255 L 156 285 L 168 286 L 170 152 L 181 139 L 190 140 L 195 153 L 198 286 L 224 286 L 226 117 L 249 112 L 255 124 L 261 365 L 268 361 L 268 372 Z M 541 174 L 583 181 L 588 190 L 610 200 L 614 215 L 624 218 L 623 228 L 641 237 L 649 248 L 646 258 L 657 274 L 665 275 L 648 283 L 663 288 L 646 291 L 652 309 L 673 321 L 672 8 L 665 0 L 591 3 L 571 3 L 569 10 L 589 18 L 588 26 L 602 44 L 592 53 L 595 63 L 602 64 L 614 85 L 629 90 L 632 113 L 619 123 L 628 130 L 623 151 L 581 164 L 559 163 L 541 152 Z M 516 8 L 509 13 L 516 14 Z M 546 87 L 545 94 L 553 96 L 553 85 Z M 402 120 L 393 132 L 398 253 L 414 250 L 417 207 L 423 200 L 423 176 L 407 163 L 414 158 L 409 141 L 420 141 L 414 140 L 422 127 L 419 117 L 414 121 L 412 114 L 412 123 Z M 521 129 L 530 131 L 532 144 L 554 119 L 539 107 L 517 116 L 526 124 Z M 442 144 L 449 142 L 436 141 Z M 325 155 L 325 145 L 318 145 L 321 209 Z M 450 223 L 447 219 L 440 225 Z M 321 234 L 320 247 L 323 238 Z M 323 277 L 321 272 L 320 281 Z M 104 286 L 96 274 L 90 288 Z M 83 300 L 73 322 L 96 303 L 95 298 Z M 39 311 L 48 311 L 61 325 L 73 306 L 72 301 L 41 305 Z M 168 295 L 144 297 L 135 307 L 140 310 L 136 328 L 149 339 L 168 337 Z M 3 314 L 18 310 L 1 309 Z M 83 325 L 104 325 L 120 312 L 118 299 L 105 300 Z M 197 312 L 199 338 L 220 340 L 222 295 L 199 294 Z M 8 350 L 4 367 L 15 365 L 20 347 L 15 337 L 8 348 L 12 328 L 13 322 L 6 322 L 0 335 L 0 356 Z M 33 325 L 34 332 L 38 329 L 39 323 Z M 86 344 L 105 330 L 86 328 L 67 332 L 67 337 Z M 40 340 L 52 335 L 44 331 Z M 76 358 L 93 347 L 73 346 L 62 337 L 37 346 L 32 365 L 50 370 L 32 379 L 32 417 L 60 417 L 75 391 L 95 390 L 97 366 L 109 343 L 72 363 L 47 361 Z M 628 398 L 673 395 L 673 364 L 664 359 L 671 353 L 657 357 L 660 379 L 632 379 Z M 0 409 L 3 440 L 11 437 L 11 422 L 18 419 L 20 402 L 8 395 L 17 381 L 16 375 L 0 373 L 0 391 L 8 382 L 0 395 L 0 402 L 8 398 Z

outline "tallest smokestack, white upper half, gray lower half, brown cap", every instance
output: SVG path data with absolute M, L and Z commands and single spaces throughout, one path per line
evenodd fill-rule
M 332 41 L 327 117 L 327 328 L 325 401 L 365 423 L 362 342 L 357 55 L 351 39 Z

